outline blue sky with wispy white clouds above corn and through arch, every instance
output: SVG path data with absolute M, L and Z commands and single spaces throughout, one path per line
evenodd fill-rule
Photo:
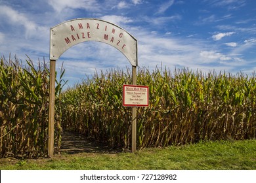
M 192 71 L 256 70 L 255 0 L 0 0 L 0 55 L 49 61 L 49 30 L 74 18 L 112 22 L 138 40 L 139 66 Z M 64 52 L 68 85 L 95 70 L 131 67 L 116 48 L 83 42 Z

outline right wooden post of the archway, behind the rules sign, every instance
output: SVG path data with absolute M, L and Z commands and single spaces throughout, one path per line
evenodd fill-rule
M 133 85 L 137 85 L 137 74 L 136 66 L 133 66 Z M 136 139 L 137 139 L 137 107 L 133 107 L 133 116 L 132 116 L 132 131 L 131 131 L 131 152 L 136 152 Z

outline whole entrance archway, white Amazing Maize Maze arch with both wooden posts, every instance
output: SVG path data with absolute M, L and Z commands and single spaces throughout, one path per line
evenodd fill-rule
M 54 101 L 55 101 L 55 65 L 56 60 L 68 48 L 86 41 L 104 42 L 114 46 L 123 53 L 133 66 L 133 84 L 137 84 L 136 67 L 137 39 L 121 27 L 93 18 L 79 18 L 58 24 L 50 29 L 50 98 L 49 98 L 49 135 L 48 156 L 54 152 Z M 132 152 L 136 151 L 136 115 L 133 107 L 132 122 Z

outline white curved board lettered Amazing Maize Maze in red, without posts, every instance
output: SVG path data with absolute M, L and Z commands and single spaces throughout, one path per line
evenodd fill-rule
M 75 19 L 51 28 L 50 59 L 58 59 L 68 48 L 85 41 L 104 42 L 122 52 L 137 66 L 137 40 L 121 27 L 91 18 Z

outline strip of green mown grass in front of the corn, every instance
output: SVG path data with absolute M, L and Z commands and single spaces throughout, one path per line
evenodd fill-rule
M 256 169 L 256 140 L 199 142 L 146 148 L 135 154 L 61 154 L 54 158 L 0 159 L 0 169 Z

